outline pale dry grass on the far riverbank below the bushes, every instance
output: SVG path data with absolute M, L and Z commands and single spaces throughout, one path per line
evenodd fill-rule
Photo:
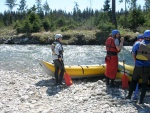
M 119 28 L 121 36 L 125 37 L 126 41 L 130 41 L 134 39 L 138 34 L 130 31 L 129 29 Z M 0 38 L 4 37 L 28 37 L 28 38 L 36 38 L 37 40 L 41 41 L 42 43 L 49 43 L 54 40 L 55 34 L 62 34 L 63 35 L 63 43 L 64 44 L 104 44 L 107 37 L 110 35 L 110 32 L 103 32 L 98 29 L 75 29 L 75 30 L 66 30 L 62 32 L 61 30 L 56 31 L 41 31 L 38 33 L 32 34 L 16 34 L 16 31 L 13 27 L 3 27 L 0 29 Z

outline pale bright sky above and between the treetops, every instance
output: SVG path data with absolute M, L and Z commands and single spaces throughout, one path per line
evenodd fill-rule
M 4 11 L 8 10 L 8 6 L 5 5 L 6 0 L 0 0 L 0 12 L 3 13 Z M 42 5 L 46 2 L 46 0 L 41 0 Z M 75 6 L 75 2 L 78 3 L 79 9 L 83 11 L 83 9 L 91 8 L 93 10 L 100 10 L 103 8 L 105 0 L 47 0 L 49 7 L 52 10 L 58 10 L 62 9 L 66 12 L 72 12 L 73 7 Z M 116 11 L 120 11 L 121 8 L 124 9 L 124 2 L 119 3 L 119 0 L 116 0 Z M 124 0 L 125 1 L 125 0 Z M 16 0 L 16 4 L 19 4 L 20 0 Z M 33 4 L 36 3 L 36 0 L 26 0 L 26 5 L 28 6 L 28 9 L 30 9 Z M 144 6 L 145 2 L 144 0 L 137 0 L 137 4 Z M 16 11 L 18 6 L 16 6 L 13 11 Z

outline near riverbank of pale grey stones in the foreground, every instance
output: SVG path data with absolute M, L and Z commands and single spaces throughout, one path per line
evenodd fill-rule
M 103 80 L 73 80 L 70 87 L 54 86 L 53 78 L 0 71 L 1 113 L 149 113 L 144 105 L 124 100 L 121 88 L 107 88 Z

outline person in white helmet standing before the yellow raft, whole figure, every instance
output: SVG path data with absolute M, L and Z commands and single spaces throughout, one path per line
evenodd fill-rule
M 63 50 L 63 46 L 61 44 L 62 37 L 63 36 L 61 34 L 56 34 L 54 36 L 55 41 L 51 45 L 52 58 L 53 58 L 54 67 L 55 67 L 56 86 L 64 84 L 62 82 L 63 75 L 65 72 L 64 64 L 63 64 L 63 52 L 64 52 L 64 50 Z M 59 74 L 59 70 L 60 70 L 60 74 Z

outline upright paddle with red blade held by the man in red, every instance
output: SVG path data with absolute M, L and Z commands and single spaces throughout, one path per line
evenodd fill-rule
M 126 89 L 128 89 L 128 77 L 125 74 L 125 60 L 124 60 L 124 50 L 122 49 L 122 55 L 123 55 L 123 72 L 124 74 L 122 75 L 122 89 L 125 90 L 125 97 L 126 97 Z

